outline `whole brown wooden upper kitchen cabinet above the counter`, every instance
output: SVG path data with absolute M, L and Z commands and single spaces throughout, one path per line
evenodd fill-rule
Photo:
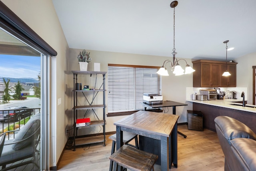
M 226 62 L 197 60 L 193 61 L 193 87 L 236 87 L 236 64 L 228 63 L 231 76 L 222 76 Z M 225 66 L 225 67 L 224 67 Z

